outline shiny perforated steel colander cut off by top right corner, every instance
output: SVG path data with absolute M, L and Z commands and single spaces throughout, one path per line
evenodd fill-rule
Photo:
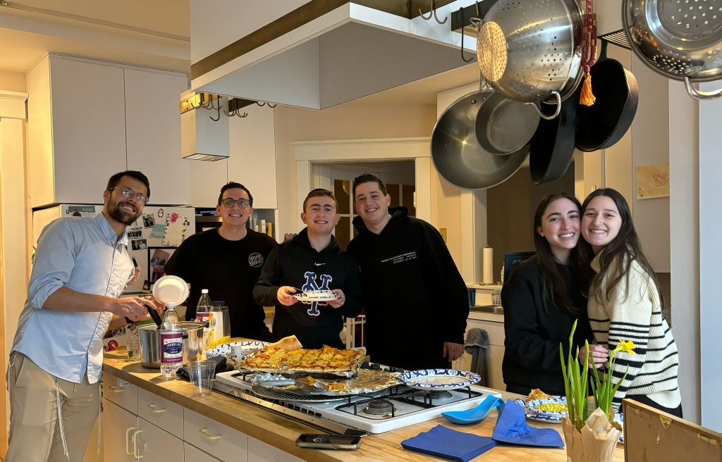
M 722 96 L 722 89 L 692 86 L 722 79 L 722 0 L 624 0 L 622 19 L 632 50 L 649 68 L 684 80 L 695 99 Z

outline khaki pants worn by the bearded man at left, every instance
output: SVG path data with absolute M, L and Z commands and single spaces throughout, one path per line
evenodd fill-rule
M 5 461 L 82 462 L 100 410 L 100 383 L 90 385 L 87 377 L 83 383 L 56 378 L 20 352 L 10 355 L 7 376 L 10 432 Z

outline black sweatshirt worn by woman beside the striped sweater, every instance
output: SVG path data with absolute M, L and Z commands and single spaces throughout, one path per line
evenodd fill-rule
M 507 391 L 529 394 L 531 389 L 541 388 L 548 394 L 564 395 L 560 344 L 566 361 L 575 319 L 579 321 L 574 344 L 583 346 L 585 339 L 590 342 L 593 339 L 580 272 L 560 264 L 557 268 L 570 300 L 579 308 L 578 316 L 567 314 L 548 301 L 545 306 L 541 274 L 534 257 L 521 263 L 502 288 L 506 332 L 502 371 Z

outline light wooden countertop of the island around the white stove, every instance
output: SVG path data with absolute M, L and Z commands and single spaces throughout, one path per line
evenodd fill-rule
M 379 435 L 368 435 L 362 439 L 357 450 L 303 449 L 295 445 L 298 435 L 300 433 L 318 433 L 318 429 L 215 392 L 209 396 L 193 396 L 191 383 L 180 379 L 162 378 L 159 370 L 144 368 L 139 362 L 129 363 L 116 352 L 105 353 L 103 370 L 264 443 L 312 462 L 442 461 L 445 459 L 404 450 L 401 447 L 401 441 L 418 435 L 419 432 L 430 430 L 438 424 L 461 432 L 491 436 L 497 417 L 496 411 L 492 411 L 482 422 L 473 425 L 455 425 L 443 417 L 439 417 Z M 518 397 L 506 392 L 502 394 L 505 399 Z M 562 430 L 560 425 L 530 423 L 535 427 L 553 427 L 560 433 Z M 566 452 L 564 449 L 498 445 L 484 453 L 478 460 L 565 462 Z M 623 462 L 624 460 L 624 450 L 618 446 L 615 450 L 614 462 Z

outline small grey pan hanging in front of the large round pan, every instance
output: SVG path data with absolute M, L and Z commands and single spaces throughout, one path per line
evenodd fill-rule
M 487 152 L 505 156 L 529 144 L 537 126 L 539 114 L 533 105 L 492 92 L 477 114 L 477 139 Z

